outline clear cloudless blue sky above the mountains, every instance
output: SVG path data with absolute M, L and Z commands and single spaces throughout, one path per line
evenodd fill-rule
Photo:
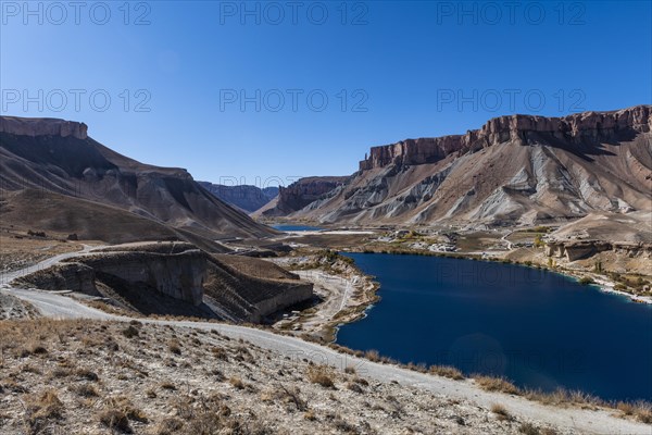
M 64 1 L 27 11 L 3 0 L 0 110 L 83 121 L 118 152 L 196 179 L 287 184 L 350 174 L 371 146 L 465 133 L 502 114 L 652 103 L 649 1 L 518 3 Z

